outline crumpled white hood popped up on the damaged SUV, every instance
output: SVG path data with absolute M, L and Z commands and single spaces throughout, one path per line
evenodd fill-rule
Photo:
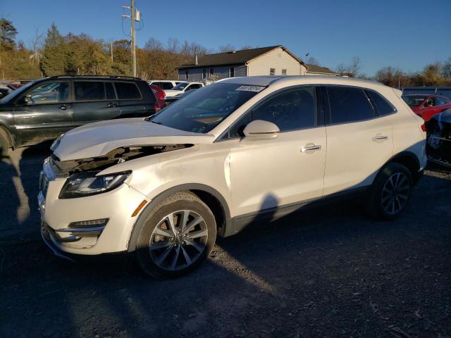
M 185 132 L 142 118 L 89 123 L 66 132 L 54 150 L 60 161 L 104 156 L 122 146 L 209 144 L 214 135 Z

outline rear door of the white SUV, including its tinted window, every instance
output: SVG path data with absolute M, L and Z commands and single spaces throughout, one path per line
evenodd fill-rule
M 364 89 L 328 86 L 324 195 L 365 187 L 393 155 L 391 125 L 375 113 Z

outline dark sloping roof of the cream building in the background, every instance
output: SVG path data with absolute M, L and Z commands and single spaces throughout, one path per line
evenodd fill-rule
M 239 65 L 247 63 L 257 56 L 261 56 L 263 54 L 268 53 L 268 51 L 272 51 L 276 48 L 282 48 L 288 54 L 290 54 L 293 58 L 295 58 L 299 63 L 304 64 L 295 54 L 292 54 L 288 49 L 284 46 L 269 46 L 269 47 L 261 47 L 261 48 L 253 48 L 253 49 L 243 49 L 241 51 L 229 51 L 227 53 L 218 53 L 218 54 L 206 54 L 197 57 L 197 65 L 195 64 L 195 58 L 192 59 L 191 63 L 187 63 L 185 65 L 181 65 L 179 69 L 183 68 L 202 68 L 202 67 L 211 67 L 214 65 Z

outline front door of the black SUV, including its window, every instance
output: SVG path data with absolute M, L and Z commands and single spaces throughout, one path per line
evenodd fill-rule
M 68 80 L 40 82 L 18 101 L 24 96 L 27 104 L 14 107 L 14 125 L 26 143 L 53 139 L 74 127 Z

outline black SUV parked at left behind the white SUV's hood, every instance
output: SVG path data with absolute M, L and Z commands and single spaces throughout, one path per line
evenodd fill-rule
M 56 139 L 100 120 L 149 116 L 154 92 L 137 77 L 54 76 L 29 82 L 0 101 L 0 149 Z

